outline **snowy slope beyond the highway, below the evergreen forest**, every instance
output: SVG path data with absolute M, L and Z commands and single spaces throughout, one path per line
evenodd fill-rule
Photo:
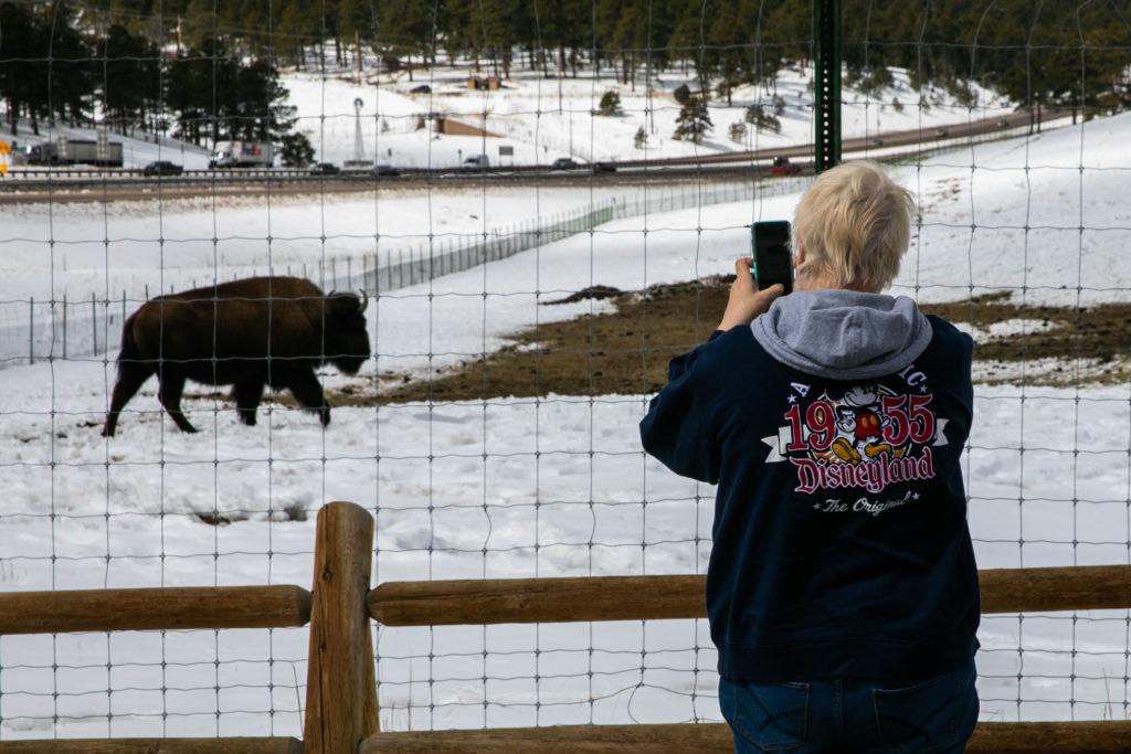
M 776 92 L 746 85 L 736 87 L 732 105 L 715 97 L 708 107 L 714 130 L 700 145 L 672 138 L 680 105 L 672 93 L 681 84 L 698 88 L 693 78 L 677 71 L 662 73 L 648 95 L 642 79 L 636 87 L 613 77 L 594 79 L 543 78 L 516 72 L 500 89 L 468 89 L 469 69 L 438 68 L 417 72 L 413 80 L 404 73 L 372 76 L 369 84 L 352 78 L 321 77 L 314 73 L 287 73 L 284 85 L 291 90 L 291 104 L 297 109 L 299 128 L 307 133 L 320 159 L 340 162 L 354 153 L 357 118 L 354 101 L 361 98 L 360 125 L 366 159 L 398 165 L 450 167 L 457 158 L 486 154 L 499 159 L 499 146 L 515 148 L 517 164 L 547 164 L 562 156 L 582 161 L 641 159 L 716 154 L 740 149 L 805 144 L 812 138 L 812 94 L 808 90 L 812 69 L 785 69 Z M 906 71 L 892 70 L 893 81 L 874 94 L 852 87 L 843 89 L 843 133 L 847 137 L 884 131 L 933 129 L 1004 115 L 1013 111 L 1009 102 L 975 87 L 977 105 L 959 106 L 942 89 L 924 93 L 927 106 L 918 106 L 918 93 L 908 84 Z M 428 86 L 429 93 L 413 93 Z M 621 112 L 595 115 L 605 92 L 616 92 Z M 740 141 L 728 138 L 729 125 L 742 121 L 745 109 L 760 104 L 774 112 L 774 97 L 780 97 L 778 116 L 782 130 L 774 133 L 750 127 Z M 893 103 L 898 102 L 899 105 Z M 485 127 L 487 138 L 431 136 L 420 130 L 428 113 L 452 116 L 464 123 Z M 644 128 L 647 145 L 637 148 L 637 130 Z M 509 157 L 503 157 L 509 161 Z M 504 163 L 506 164 L 506 163 Z

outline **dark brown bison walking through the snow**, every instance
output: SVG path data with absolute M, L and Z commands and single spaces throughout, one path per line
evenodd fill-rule
M 301 406 L 330 423 L 314 369 L 334 364 L 356 374 L 369 358 L 361 296 L 326 295 L 310 280 L 258 277 L 159 296 L 122 326 L 118 381 L 102 431 L 113 436 L 118 415 L 156 374 L 157 397 L 182 432 L 184 381 L 231 384 L 240 421 L 256 423 L 264 387 L 288 389 Z

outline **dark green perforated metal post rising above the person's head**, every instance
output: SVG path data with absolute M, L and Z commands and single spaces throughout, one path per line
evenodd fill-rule
M 840 0 L 813 0 L 813 170 L 840 164 Z

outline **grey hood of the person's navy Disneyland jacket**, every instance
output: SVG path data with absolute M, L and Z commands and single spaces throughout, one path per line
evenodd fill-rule
M 931 322 L 907 296 L 800 291 L 750 323 L 786 366 L 832 380 L 873 379 L 910 364 L 931 343 Z

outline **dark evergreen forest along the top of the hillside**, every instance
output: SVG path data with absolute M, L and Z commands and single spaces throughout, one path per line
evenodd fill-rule
M 27 119 L 206 139 L 280 138 L 280 67 L 385 71 L 459 62 L 507 78 L 679 71 L 701 102 L 774 87 L 810 63 L 810 0 L 0 0 L 0 99 Z M 846 83 L 890 68 L 969 105 L 972 84 L 1024 107 L 1107 113 L 1131 102 L 1131 0 L 843 0 Z M 159 11 L 159 12 L 158 12 Z M 372 66 L 372 63 L 370 63 Z M 922 101 L 921 101 L 922 102 Z M 930 103 L 926 103 L 930 106 Z

